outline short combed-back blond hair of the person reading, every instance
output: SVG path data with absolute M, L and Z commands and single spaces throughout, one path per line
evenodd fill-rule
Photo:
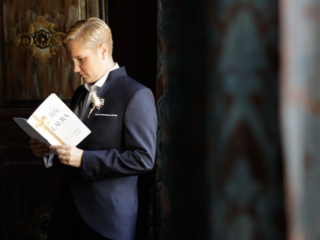
M 80 41 L 84 46 L 90 49 L 97 49 L 105 43 L 108 52 L 112 54 L 112 35 L 108 25 L 97 17 L 90 17 L 75 22 L 62 38 L 65 45 L 69 41 Z

